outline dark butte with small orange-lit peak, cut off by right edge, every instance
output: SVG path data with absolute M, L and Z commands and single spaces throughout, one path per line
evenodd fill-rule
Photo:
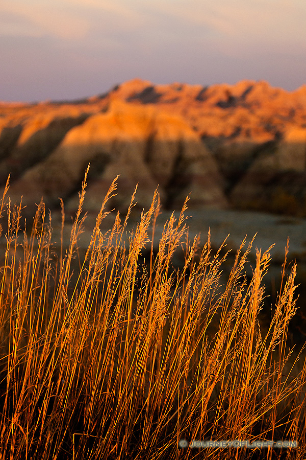
M 231 193 L 244 209 L 306 215 L 306 129 L 288 127 L 282 140 L 260 152 Z

